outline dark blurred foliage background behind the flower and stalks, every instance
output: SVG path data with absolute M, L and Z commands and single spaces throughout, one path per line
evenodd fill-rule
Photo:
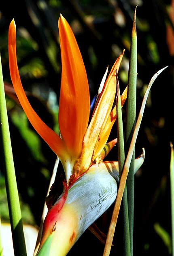
M 174 1 L 173 1 L 174 2 Z M 157 70 L 136 143 L 136 156 L 145 147 L 146 158 L 135 177 L 134 255 L 171 254 L 170 141 L 174 142 L 174 22 L 170 0 L 49 0 L 1 1 L 0 51 L 7 94 L 17 184 L 25 223 L 40 224 L 42 207 L 56 156 L 28 123 L 8 87 L 8 26 L 17 26 L 17 57 L 21 81 L 38 115 L 58 131 L 61 57 L 57 21 L 60 13 L 74 31 L 87 70 L 91 99 L 107 65 L 125 48 L 119 71 L 123 92 L 127 85 L 132 18 L 136 4 L 138 37 L 137 114 L 142 96 Z M 174 6 L 174 4 L 173 4 Z M 174 8 L 174 7 L 173 7 Z M 169 39 L 167 39 L 169 38 Z M 123 116 L 125 108 L 123 108 Z M 116 137 L 116 127 L 110 139 Z M 117 147 L 106 160 L 117 160 Z M 8 222 L 4 177 L 0 172 L 0 211 Z M 113 207 L 97 221 L 106 234 Z M 116 226 L 110 255 L 124 255 L 122 222 Z M 68 255 L 102 255 L 104 245 L 89 230 Z

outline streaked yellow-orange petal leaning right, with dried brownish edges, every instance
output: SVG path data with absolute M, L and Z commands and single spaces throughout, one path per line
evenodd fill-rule
M 124 53 L 124 51 L 123 51 Z M 110 112 L 115 98 L 116 92 L 116 77 L 115 72 L 119 70 L 121 60 L 123 58 L 123 53 L 116 60 L 113 65 L 108 79 L 104 84 L 104 88 L 100 94 L 98 102 L 95 106 L 93 117 L 87 128 L 87 132 L 83 141 L 83 151 L 81 157 L 81 168 L 88 168 L 91 160 L 95 159 L 104 148 L 106 141 L 108 139 L 109 133 L 105 130 L 108 120 L 110 120 Z M 105 139 L 101 141 L 101 134 L 104 135 Z M 101 143 L 102 142 L 102 143 Z

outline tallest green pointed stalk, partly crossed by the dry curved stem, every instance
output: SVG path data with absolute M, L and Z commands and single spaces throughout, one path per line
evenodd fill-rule
M 132 28 L 132 41 L 130 47 L 129 60 L 129 75 L 127 87 L 127 109 L 126 109 L 126 154 L 128 152 L 132 135 L 135 129 L 136 121 L 136 76 L 137 76 L 137 36 L 136 36 L 136 10 L 134 13 L 134 21 Z M 134 161 L 135 151 L 132 156 L 132 161 L 129 167 L 129 174 L 127 177 L 127 202 L 129 212 L 129 234 L 131 255 L 133 255 L 133 235 L 134 235 Z

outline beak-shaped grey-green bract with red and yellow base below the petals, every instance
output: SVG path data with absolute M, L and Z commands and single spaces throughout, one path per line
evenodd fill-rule
M 108 209 L 116 196 L 117 182 L 108 172 L 108 167 L 104 162 L 92 165 L 68 190 L 64 206 L 60 198 L 47 214 L 39 250 L 52 234 L 53 241 L 49 254 L 38 252 L 37 255 L 65 256 L 83 232 Z

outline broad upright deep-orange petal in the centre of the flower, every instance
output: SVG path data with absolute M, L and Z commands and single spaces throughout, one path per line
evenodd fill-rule
M 79 158 L 89 121 L 89 86 L 83 59 L 74 34 L 62 15 L 59 18 L 62 81 L 59 127 L 68 151 Z

